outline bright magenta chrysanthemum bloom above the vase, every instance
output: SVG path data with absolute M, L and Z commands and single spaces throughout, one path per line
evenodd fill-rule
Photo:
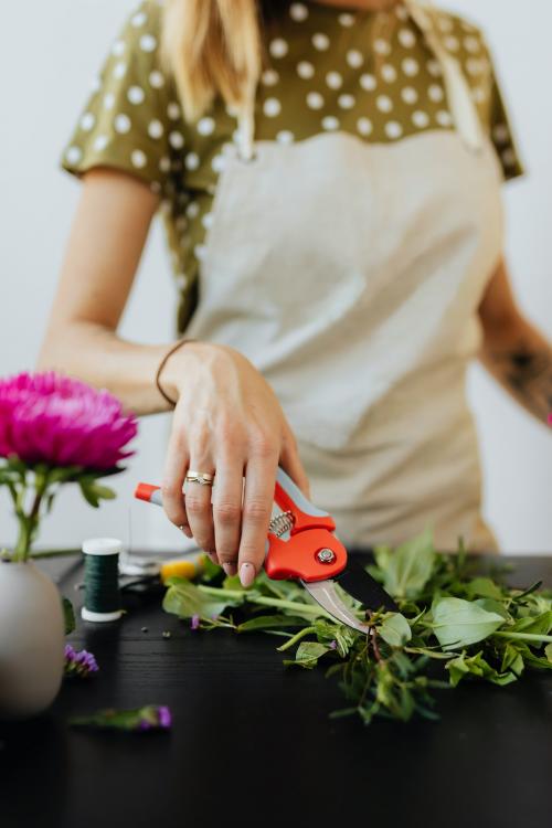
M 53 371 L 0 380 L 0 456 L 109 469 L 131 452 L 137 421 L 108 391 Z

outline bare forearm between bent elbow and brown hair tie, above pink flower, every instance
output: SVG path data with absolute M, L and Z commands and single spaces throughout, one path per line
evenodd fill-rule
M 38 368 L 105 388 L 136 414 L 155 414 L 170 410 L 155 381 L 168 349 L 127 342 L 100 325 L 74 321 L 63 326 L 63 333 L 49 332 Z

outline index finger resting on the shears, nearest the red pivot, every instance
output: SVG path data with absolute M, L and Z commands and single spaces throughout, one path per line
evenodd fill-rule
M 242 537 L 237 561 L 243 586 L 251 586 L 265 560 L 276 469 L 276 453 L 272 457 L 254 457 L 247 461 L 245 468 Z

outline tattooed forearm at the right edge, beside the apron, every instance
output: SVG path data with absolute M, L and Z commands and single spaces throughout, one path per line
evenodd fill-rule
M 552 412 L 552 347 L 545 337 L 518 317 L 486 338 L 481 361 L 500 384 L 537 420 Z

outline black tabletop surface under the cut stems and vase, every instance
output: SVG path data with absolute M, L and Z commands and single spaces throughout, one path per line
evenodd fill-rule
M 552 585 L 552 559 L 508 559 L 517 585 Z M 65 564 L 62 592 L 81 573 Z M 75 596 L 76 599 L 75 599 Z M 545 826 L 551 824 L 552 678 L 443 691 L 438 722 L 329 720 L 323 670 L 286 669 L 269 635 L 193 631 L 160 595 L 119 623 L 78 623 L 100 672 L 53 708 L 0 725 L 0 826 Z M 147 627 L 147 633 L 142 631 Z M 163 637 L 163 631 L 170 637 Z M 85 732 L 74 714 L 169 704 L 168 733 Z

